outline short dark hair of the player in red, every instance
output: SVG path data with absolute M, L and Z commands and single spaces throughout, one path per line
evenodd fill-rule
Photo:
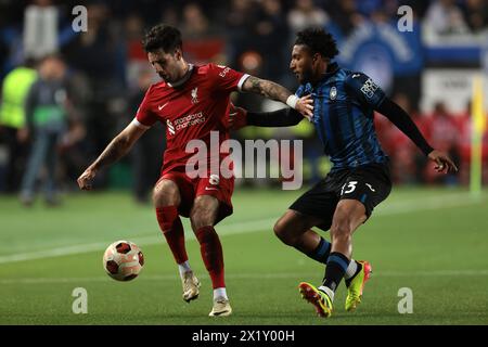
M 181 33 L 176 27 L 158 24 L 145 34 L 142 46 L 146 52 L 162 49 L 166 53 L 174 53 L 177 48 L 181 49 L 183 42 Z

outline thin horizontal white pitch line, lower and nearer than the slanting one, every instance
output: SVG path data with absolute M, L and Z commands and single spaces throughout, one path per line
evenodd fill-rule
M 294 279 L 294 278 L 313 278 L 317 272 L 269 272 L 269 273 L 229 273 L 226 278 L 229 279 L 244 279 L 244 280 L 275 280 L 275 279 Z M 433 271 L 378 271 L 374 272 L 374 278 L 437 278 L 437 277 L 488 277 L 488 270 L 433 270 Z M 151 274 L 141 275 L 138 281 L 177 281 L 178 274 Z M 108 277 L 94 278 L 20 278 L 0 280 L 0 284 L 53 284 L 53 283 L 87 283 L 87 282 L 107 282 L 115 283 Z

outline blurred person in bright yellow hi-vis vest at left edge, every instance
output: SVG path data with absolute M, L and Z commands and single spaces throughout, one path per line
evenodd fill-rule
M 0 134 L 7 144 L 8 159 L 5 178 L 0 190 L 13 193 L 18 190 L 27 156 L 26 132 L 23 131 L 26 119 L 24 103 L 30 86 L 37 78 L 37 72 L 29 60 L 11 70 L 2 83 L 0 105 Z

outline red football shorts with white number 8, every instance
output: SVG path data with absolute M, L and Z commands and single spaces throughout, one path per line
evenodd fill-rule
M 183 217 L 190 217 L 193 202 L 200 195 L 211 195 L 219 201 L 219 211 L 216 224 L 223 218 L 232 215 L 232 193 L 234 191 L 234 177 L 224 178 L 218 175 L 207 175 L 207 177 L 190 178 L 184 171 L 174 169 L 162 175 L 158 181 L 166 179 L 174 181 L 180 190 L 181 203 L 178 213 Z M 157 183 L 156 183 L 157 184 Z

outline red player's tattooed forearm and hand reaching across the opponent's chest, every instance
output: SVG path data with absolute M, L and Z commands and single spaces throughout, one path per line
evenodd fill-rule
M 313 115 L 313 100 L 310 98 L 298 98 L 292 94 L 292 92 L 283 86 L 273 81 L 249 76 L 244 81 L 242 90 L 281 101 L 292 108 L 295 108 L 307 118 L 310 118 Z

